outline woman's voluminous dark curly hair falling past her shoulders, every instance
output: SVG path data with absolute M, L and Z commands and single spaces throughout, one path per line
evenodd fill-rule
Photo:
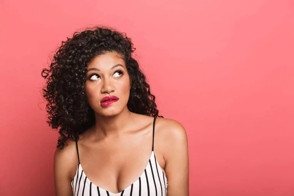
M 61 42 L 48 69 L 42 70 L 46 85 L 42 89 L 47 100 L 47 123 L 59 129 L 57 147 L 62 149 L 67 140 L 78 140 L 95 123 L 93 109 L 85 93 L 87 63 L 107 52 L 121 54 L 131 79 L 128 110 L 133 113 L 158 116 L 155 96 L 138 62 L 132 57 L 136 48 L 125 33 L 109 27 L 86 28 Z M 160 116 L 162 117 L 162 116 Z

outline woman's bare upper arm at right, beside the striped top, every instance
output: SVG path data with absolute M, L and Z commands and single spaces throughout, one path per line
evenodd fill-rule
M 188 140 L 185 128 L 174 120 L 166 126 L 165 172 L 168 196 L 189 195 Z

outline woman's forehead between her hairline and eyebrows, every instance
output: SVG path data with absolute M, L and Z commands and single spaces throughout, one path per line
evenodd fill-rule
M 126 66 L 125 62 L 120 54 L 117 53 L 105 53 L 94 57 L 87 65 L 87 68 L 98 68 L 102 70 L 109 70 L 114 65 L 121 64 Z

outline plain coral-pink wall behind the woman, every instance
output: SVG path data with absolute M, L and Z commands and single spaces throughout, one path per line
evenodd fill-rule
M 190 195 L 294 195 L 294 2 L 0 2 L 0 195 L 54 195 L 42 68 L 67 36 L 130 36 L 166 118 L 187 130 Z

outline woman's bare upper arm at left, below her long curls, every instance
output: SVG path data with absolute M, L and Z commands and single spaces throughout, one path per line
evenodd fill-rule
M 68 148 L 67 146 L 66 148 Z M 54 154 L 54 184 L 56 196 L 72 196 L 71 168 L 72 157 L 69 149 L 56 149 Z

